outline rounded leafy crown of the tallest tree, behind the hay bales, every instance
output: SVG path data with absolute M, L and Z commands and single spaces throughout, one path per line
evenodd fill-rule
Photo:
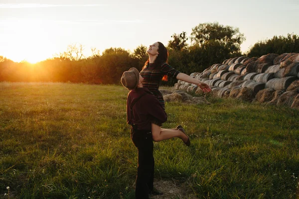
M 224 26 L 218 22 L 201 23 L 192 28 L 191 41 L 195 44 L 203 45 L 211 40 L 218 41 L 231 53 L 239 53 L 240 44 L 245 41 L 245 37 L 240 33 L 239 28 Z

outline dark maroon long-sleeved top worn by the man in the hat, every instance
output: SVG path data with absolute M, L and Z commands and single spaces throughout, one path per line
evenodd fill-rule
M 131 115 L 131 104 L 143 94 L 144 97 L 136 102 L 133 106 L 134 121 Z M 147 88 L 137 88 L 130 91 L 127 98 L 127 123 L 136 124 L 140 130 L 151 130 L 153 121 L 164 123 L 167 121 L 167 115 L 162 105 L 155 96 Z

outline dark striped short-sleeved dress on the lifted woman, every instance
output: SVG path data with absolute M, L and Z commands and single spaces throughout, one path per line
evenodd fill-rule
M 159 92 L 160 81 L 164 75 L 167 75 L 170 78 L 176 78 L 179 73 L 179 71 L 175 70 L 167 63 L 164 63 L 161 66 L 148 64 L 144 66 L 140 75 L 144 78 L 143 86 L 149 89 L 165 109 L 163 95 Z

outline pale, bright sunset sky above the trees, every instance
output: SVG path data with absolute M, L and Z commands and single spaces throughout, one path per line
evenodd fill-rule
M 241 51 L 274 35 L 299 35 L 299 0 L 0 0 L 0 56 L 31 63 L 82 44 L 134 51 L 200 23 L 239 28 Z

